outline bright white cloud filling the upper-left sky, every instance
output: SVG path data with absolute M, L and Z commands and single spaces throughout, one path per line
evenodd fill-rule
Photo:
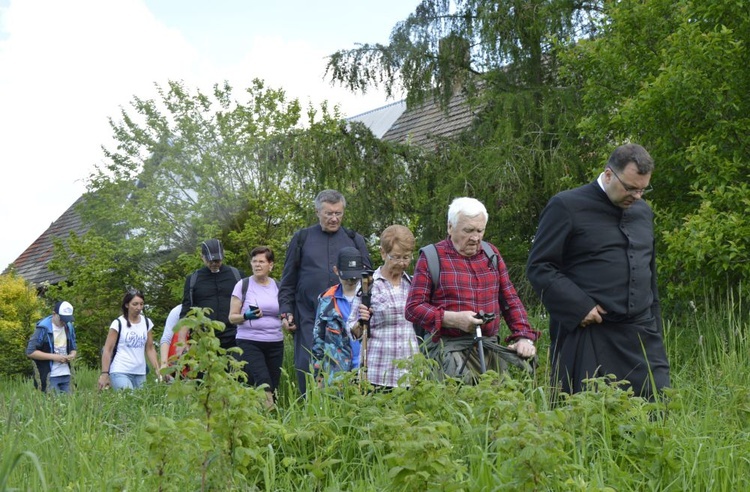
M 209 24 L 200 28 L 221 29 Z M 108 118 L 119 119 L 136 95 L 154 97 L 155 83 L 207 90 L 228 80 L 242 89 L 261 78 L 303 107 L 327 99 L 348 116 L 385 103 L 377 92 L 353 95 L 323 80 L 330 51 L 314 36 L 248 32 L 218 63 L 215 47 L 202 53 L 185 35 L 143 0 L 11 0 L 0 11 L 0 270 L 83 193 L 101 146 L 113 145 Z

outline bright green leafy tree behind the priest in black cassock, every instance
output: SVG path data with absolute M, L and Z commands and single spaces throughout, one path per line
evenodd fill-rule
M 743 2 L 608 2 L 595 40 L 566 58 L 581 130 L 600 148 L 654 156 L 660 270 L 672 297 L 726 292 L 750 275 L 750 10 Z M 603 161 L 603 159 L 601 159 Z

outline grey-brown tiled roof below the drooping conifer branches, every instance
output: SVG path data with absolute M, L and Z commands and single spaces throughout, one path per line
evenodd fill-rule
M 447 111 L 434 101 L 407 109 L 385 132 L 383 140 L 432 150 L 437 140 L 455 137 L 469 128 L 476 114 L 467 103 L 466 95 L 458 93 L 451 98 Z

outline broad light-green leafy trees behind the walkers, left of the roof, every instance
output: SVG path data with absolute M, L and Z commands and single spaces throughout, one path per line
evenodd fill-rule
M 225 263 L 250 272 L 250 251 L 270 246 L 281 272 L 286 244 L 317 221 L 313 199 L 336 188 L 348 199 L 346 225 L 365 237 L 416 222 L 410 171 L 421 154 L 376 139 L 337 110 L 309 108 L 253 81 L 240 97 L 170 82 L 155 100 L 134 98 L 111 121 L 118 144 L 90 176 L 80 208 L 87 234 L 56 245 L 50 267 L 65 285 L 50 295 L 74 302 L 90 327 L 81 339 L 92 364 L 125 288 L 146 293 L 157 322 L 202 266 L 200 243 L 220 238 Z

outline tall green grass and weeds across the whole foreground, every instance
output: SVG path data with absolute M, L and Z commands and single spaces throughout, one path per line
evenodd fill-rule
M 668 322 L 661 403 L 597 381 L 553 404 L 542 364 L 533 380 L 422 378 L 390 393 L 349 380 L 306 401 L 284 376 L 270 412 L 261 390 L 218 370 L 206 336 L 201 386 L 152 377 L 98 392 L 84 368 L 72 395 L 1 381 L 0 490 L 750 490 L 749 333 L 731 301 Z

